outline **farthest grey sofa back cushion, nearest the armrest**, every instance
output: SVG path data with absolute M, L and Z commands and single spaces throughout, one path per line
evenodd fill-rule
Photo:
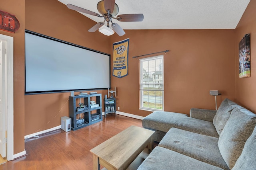
M 213 118 L 213 125 L 216 128 L 217 133 L 220 135 L 222 132 L 224 126 L 226 125 L 231 111 L 237 107 L 238 105 L 235 102 L 232 102 L 229 99 L 225 99 L 220 104 L 220 107 L 218 108 L 216 115 Z

